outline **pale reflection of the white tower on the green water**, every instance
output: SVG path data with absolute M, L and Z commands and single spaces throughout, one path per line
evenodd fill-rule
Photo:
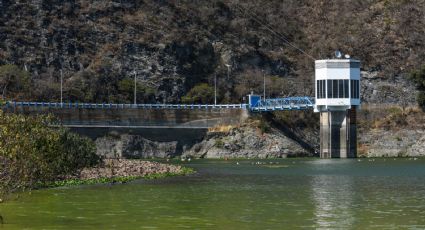
M 318 228 L 346 228 L 355 222 L 353 211 L 354 188 L 352 177 L 317 175 L 311 181 Z

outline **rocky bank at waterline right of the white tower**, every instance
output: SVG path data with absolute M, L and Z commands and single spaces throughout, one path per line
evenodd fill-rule
M 358 113 L 358 152 L 365 157 L 424 156 L 425 113 L 418 108 L 364 106 Z

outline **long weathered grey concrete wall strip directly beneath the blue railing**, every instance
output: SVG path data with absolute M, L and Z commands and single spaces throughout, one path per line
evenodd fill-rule
M 9 112 L 24 114 L 53 114 L 63 125 L 84 127 L 155 127 L 209 128 L 237 124 L 248 115 L 243 109 L 57 109 L 17 107 Z

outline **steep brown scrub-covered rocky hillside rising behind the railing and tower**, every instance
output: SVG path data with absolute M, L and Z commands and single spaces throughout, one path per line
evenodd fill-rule
M 398 103 L 391 87 L 412 92 L 425 59 L 424 17 L 423 1 L 0 0 L 0 65 L 31 73 L 32 100 L 58 100 L 62 70 L 66 100 L 129 102 L 136 75 L 139 102 L 214 76 L 219 101 L 240 102 L 263 74 L 270 96 L 312 95 L 311 57 L 341 49 L 362 61 L 365 102 Z

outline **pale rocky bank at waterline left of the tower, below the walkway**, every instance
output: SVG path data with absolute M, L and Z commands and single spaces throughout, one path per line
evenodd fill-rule
M 226 126 L 229 128 L 230 126 Z M 104 158 L 281 158 L 313 156 L 314 149 L 273 127 L 263 132 L 258 120 L 249 120 L 227 131 L 211 131 L 202 141 L 179 149 L 177 141 L 148 140 L 143 135 L 98 137 L 97 153 Z M 176 137 L 179 139 L 179 137 Z

